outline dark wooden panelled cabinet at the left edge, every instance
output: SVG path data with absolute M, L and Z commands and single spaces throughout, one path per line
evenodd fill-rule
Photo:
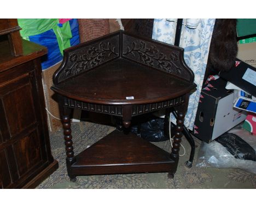
M 20 39 L 14 56 L 7 35 L 0 35 L 0 188 L 34 188 L 57 168 L 40 68 L 47 50 Z

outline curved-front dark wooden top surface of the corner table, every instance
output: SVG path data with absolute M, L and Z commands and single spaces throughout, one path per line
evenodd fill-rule
M 131 105 L 170 100 L 194 87 L 171 74 L 117 59 L 51 89 L 84 102 Z M 134 99 L 127 100 L 130 96 Z

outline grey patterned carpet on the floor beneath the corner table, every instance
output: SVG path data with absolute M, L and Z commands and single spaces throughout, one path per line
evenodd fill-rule
M 89 122 L 72 123 L 74 152 L 80 152 L 114 130 L 114 127 Z M 192 168 L 184 166 L 189 158 L 190 146 L 183 139 L 187 153 L 180 157 L 174 179 L 167 173 L 117 174 L 78 176 L 77 182 L 69 182 L 66 170 L 66 154 L 62 130 L 50 136 L 54 158 L 59 168 L 37 188 L 256 188 L 256 175 L 240 169 Z M 196 139 L 196 155 L 200 140 Z M 154 143 L 170 152 L 170 141 Z M 181 149 L 181 154 L 183 150 Z M 194 162 L 195 163 L 195 162 Z

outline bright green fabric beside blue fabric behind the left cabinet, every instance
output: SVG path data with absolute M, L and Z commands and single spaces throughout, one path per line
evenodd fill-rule
M 62 56 L 63 50 L 71 46 L 72 33 L 69 21 L 63 23 L 62 27 L 59 27 L 59 19 L 18 19 L 18 23 L 22 28 L 20 34 L 26 40 L 29 40 L 31 35 L 38 35 L 53 29 Z

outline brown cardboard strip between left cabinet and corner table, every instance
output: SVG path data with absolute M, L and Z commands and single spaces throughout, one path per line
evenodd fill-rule
M 48 127 L 51 133 L 54 133 L 62 128 L 62 123 L 56 118 L 60 118 L 59 105 L 56 98 L 53 96 L 54 91 L 50 89 L 53 85 L 53 74 L 59 68 L 61 63 L 57 63 L 54 66 L 42 71 L 42 82 L 44 88 L 44 99 L 46 114 L 48 120 Z M 48 111 L 48 112 L 47 112 Z M 52 115 L 54 115 L 54 118 Z

